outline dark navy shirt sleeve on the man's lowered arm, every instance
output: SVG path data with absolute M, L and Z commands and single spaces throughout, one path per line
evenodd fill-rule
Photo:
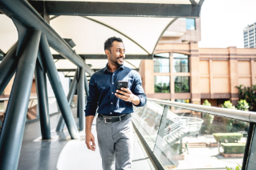
M 95 83 L 94 76 L 91 76 L 89 83 L 89 96 L 87 96 L 87 104 L 85 107 L 85 116 L 95 115 L 98 107 L 99 91 Z

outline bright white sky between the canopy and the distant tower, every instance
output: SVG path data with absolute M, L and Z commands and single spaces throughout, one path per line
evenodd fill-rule
M 243 28 L 256 22 L 256 0 L 205 0 L 201 48 L 243 48 Z

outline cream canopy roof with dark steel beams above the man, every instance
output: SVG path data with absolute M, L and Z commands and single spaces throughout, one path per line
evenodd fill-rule
M 108 63 L 104 41 L 120 37 L 126 47 L 125 65 L 140 66 L 141 59 L 152 59 L 165 30 L 177 18 L 198 18 L 203 0 L 83 0 L 29 1 L 39 14 L 50 15 L 50 26 L 61 38 L 75 42 L 75 51 L 95 71 Z M 0 14 L 0 49 L 6 53 L 18 40 L 14 23 Z M 50 43 L 51 46 L 51 43 Z M 57 69 L 75 75 L 77 67 L 51 48 Z

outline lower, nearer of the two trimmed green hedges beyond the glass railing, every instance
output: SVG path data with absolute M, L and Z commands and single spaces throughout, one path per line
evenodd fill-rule
M 246 149 L 246 143 L 228 143 L 221 144 L 224 153 L 234 154 L 234 153 L 244 153 Z

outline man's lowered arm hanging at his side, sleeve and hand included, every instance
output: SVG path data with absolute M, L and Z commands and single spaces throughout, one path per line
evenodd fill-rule
M 85 109 L 85 115 L 86 115 L 85 144 L 87 145 L 88 149 L 91 149 L 91 151 L 95 151 L 95 139 L 91 133 L 91 124 L 95 117 L 96 109 L 98 107 L 98 104 L 97 104 L 98 99 L 99 99 L 99 91 L 96 86 L 94 76 L 91 76 L 90 83 L 89 83 L 89 96 L 87 96 L 87 105 Z

